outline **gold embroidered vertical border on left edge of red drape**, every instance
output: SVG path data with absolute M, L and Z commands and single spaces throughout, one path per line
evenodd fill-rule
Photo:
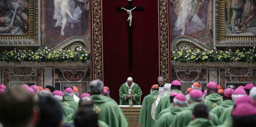
M 102 8 L 101 0 L 91 0 L 92 25 L 92 79 L 103 81 L 103 43 L 102 43 Z

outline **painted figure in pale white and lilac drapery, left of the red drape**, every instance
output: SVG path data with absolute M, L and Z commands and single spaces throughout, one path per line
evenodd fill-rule
M 78 0 L 81 1 L 81 0 Z M 55 27 L 61 26 L 61 35 L 64 36 L 64 29 L 70 23 L 70 28 L 74 28 L 74 23 L 80 22 L 82 10 L 79 6 L 75 7 L 74 0 L 54 0 L 54 16 L 56 19 Z

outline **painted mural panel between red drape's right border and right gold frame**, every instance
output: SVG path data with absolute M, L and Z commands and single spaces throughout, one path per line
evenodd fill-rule
M 170 0 L 171 40 L 179 36 L 212 47 L 213 1 Z

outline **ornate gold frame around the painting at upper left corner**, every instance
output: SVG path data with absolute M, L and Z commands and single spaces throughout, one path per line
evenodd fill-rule
M 29 0 L 29 34 L 2 34 L 0 46 L 40 46 L 40 0 Z

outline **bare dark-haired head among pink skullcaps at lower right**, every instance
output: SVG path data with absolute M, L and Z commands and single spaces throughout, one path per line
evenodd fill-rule
M 205 104 L 197 104 L 193 108 L 193 116 L 195 118 L 208 118 L 209 116 L 209 109 Z

